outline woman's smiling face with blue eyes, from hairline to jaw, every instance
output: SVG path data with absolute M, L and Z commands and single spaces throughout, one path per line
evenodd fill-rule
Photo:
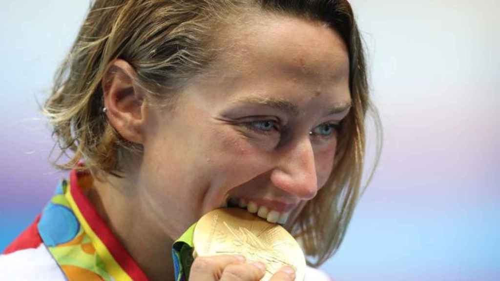
M 330 175 L 351 101 L 346 47 L 318 23 L 260 23 L 230 31 L 175 111 L 149 108 L 139 197 L 172 239 L 227 197 L 283 222 Z

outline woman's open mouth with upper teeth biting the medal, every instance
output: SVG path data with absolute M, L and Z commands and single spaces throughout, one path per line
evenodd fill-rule
M 240 207 L 271 223 L 285 224 L 290 215 L 290 204 L 265 200 L 245 200 L 242 198 L 227 198 L 222 207 Z

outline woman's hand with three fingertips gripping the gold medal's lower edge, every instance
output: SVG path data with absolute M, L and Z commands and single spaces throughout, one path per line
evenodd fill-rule
M 242 255 L 198 256 L 189 272 L 190 281 L 258 281 L 265 274 L 262 262 L 246 263 Z M 279 269 L 269 281 L 293 281 L 289 266 Z

